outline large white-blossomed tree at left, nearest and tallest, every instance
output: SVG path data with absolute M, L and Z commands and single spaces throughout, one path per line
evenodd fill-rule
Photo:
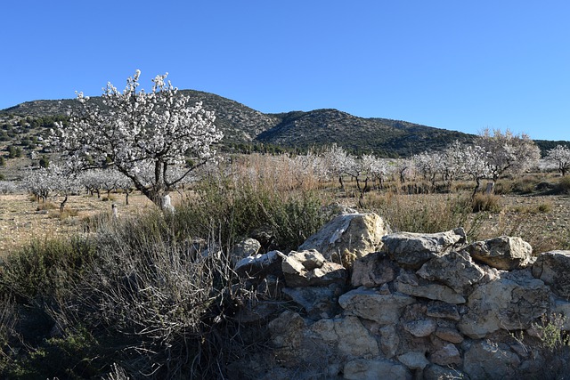
M 70 111 L 69 126 L 56 124 L 53 149 L 75 166 L 85 168 L 115 166 L 155 204 L 196 167 L 216 157 L 212 145 L 222 139 L 213 112 L 196 103 L 166 82 L 167 74 L 155 77 L 151 93 L 137 90 L 140 70 L 126 80 L 121 93 L 110 83 L 102 94 L 100 107 L 83 93 L 77 93 L 79 106 Z M 192 164 L 173 177 L 174 166 Z M 145 167 L 152 176 L 142 178 Z M 145 176 L 146 177 L 146 176 Z

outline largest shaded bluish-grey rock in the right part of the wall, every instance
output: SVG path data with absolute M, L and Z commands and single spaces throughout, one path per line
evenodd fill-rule
M 469 337 L 483 338 L 501 328 L 525 329 L 550 310 L 550 291 L 528 270 L 507 272 L 476 287 L 467 309 L 458 327 Z

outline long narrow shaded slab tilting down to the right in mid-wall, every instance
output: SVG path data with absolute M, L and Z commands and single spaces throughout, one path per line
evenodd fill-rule
M 406 274 L 398 276 L 395 280 L 395 289 L 404 295 L 439 300 L 445 303 L 465 303 L 462 295 L 457 294 L 451 287 L 418 279 L 415 275 Z

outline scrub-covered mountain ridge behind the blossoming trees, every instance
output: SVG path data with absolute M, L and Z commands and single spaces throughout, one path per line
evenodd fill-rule
M 355 117 L 338 109 L 265 114 L 214 93 L 194 90 L 181 90 L 181 93 L 190 96 L 191 102 L 202 101 L 205 109 L 216 112 L 216 125 L 224 132 L 225 148 L 277 146 L 305 150 L 337 143 L 353 152 L 373 152 L 382 157 L 410 157 L 426 150 L 442 150 L 454 140 L 469 142 L 475 137 L 405 121 Z M 101 98 L 93 97 L 90 101 L 101 102 Z M 29 121 L 30 118 L 61 116 L 74 104 L 77 103 L 69 99 L 27 101 L 0 110 L 0 119 L 17 115 L 27 117 Z M 49 126 L 45 120 L 44 126 Z M 537 142 L 539 146 L 551 145 L 551 141 Z

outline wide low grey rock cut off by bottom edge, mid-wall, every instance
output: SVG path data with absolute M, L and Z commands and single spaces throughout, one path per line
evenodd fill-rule
M 402 364 L 390 360 L 355 359 L 346 363 L 344 377 L 351 380 L 378 380 L 379 378 L 411 380 L 411 372 Z

